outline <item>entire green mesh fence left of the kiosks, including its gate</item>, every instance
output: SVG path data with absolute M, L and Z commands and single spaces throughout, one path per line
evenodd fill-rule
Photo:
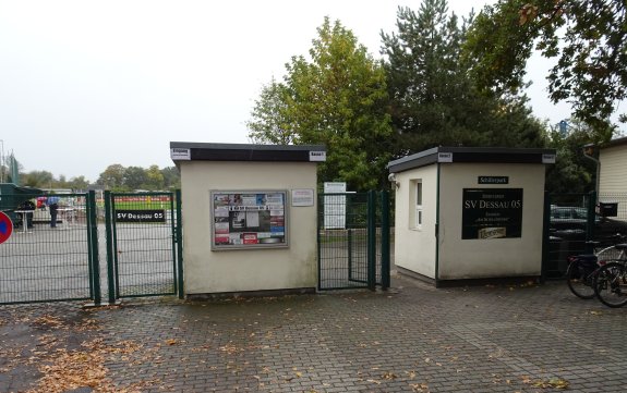
M 0 304 L 183 296 L 180 192 L 7 196 L 21 205 L 2 205 L 13 234 L 0 244 Z

